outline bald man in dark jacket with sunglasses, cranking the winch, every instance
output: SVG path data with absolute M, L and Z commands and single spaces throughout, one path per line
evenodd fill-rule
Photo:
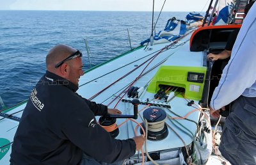
M 95 115 L 121 112 L 76 93 L 84 74 L 81 56 L 67 45 L 49 51 L 46 74 L 31 92 L 15 134 L 11 164 L 113 163 L 131 157 L 143 145 L 142 136 L 114 139 L 97 124 Z

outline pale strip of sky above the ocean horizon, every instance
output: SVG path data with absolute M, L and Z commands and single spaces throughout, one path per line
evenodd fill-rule
M 0 0 L 0 10 L 152 11 L 153 0 Z M 164 0 L 155 0 L 160 11 Z M 205 12 L 210 0 L 166 0 L 164 12 Z

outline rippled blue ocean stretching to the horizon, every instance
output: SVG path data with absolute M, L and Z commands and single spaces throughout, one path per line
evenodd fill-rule
M 156 33 L 168 19 L 185 20 L 189 12 L 163 12 Z M 159 12 L 154 13 L 156 23 Z M 83 52 L 84 70 L 138 47 L 149 38 L 152 12 L 0 11 L 0 97 L 4 106 L 26 100 L 45 73 L 45 56 L 63 43 Z M 0 100 L 1 100 L 0 98 Z M 3 109 L 0 104 L 0 109 Z

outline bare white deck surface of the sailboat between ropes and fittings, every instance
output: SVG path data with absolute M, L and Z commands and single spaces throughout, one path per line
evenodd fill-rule
M 190 35 L 185 36 L 184 38 L 182 38 L 182 40 L 180 40 L 180 42 L 176 43 L 175 45 L 179 45 L 184 41 L 188 41 L 189 38 L 190 38 Z M 154 47 L 148 47 L 148 48 L 152 48 L 151 51 L 147 51 L 147 49 L 146 50 L 139 49 L 125 56 L 117 58 L 114 61 L 110 61 L 109 63 L 106 63 L 105 65 L 99 68 L 95 68 L 94 70 L 86 73 L 81 77 L 79 84 L 82 86 L 79 88 L 77 93 L 79 93 L 79 95 L 83 96 L 84 98 L 92 97 L 93 95 L 95 95 L 95 93 L 98 93 L 100 90 L 104 89 L 106 86 L 116 81 L 116 79 L 130 72 L 132 69 L 135 68 L 135 66 L 140 65 L 144 61 L 148 61 L 149 58 L 151 58 L 152 56 L 154 56 L 154 54 L 156 54 L 156 51 L 159 51 L 160 49 L 164 48 L 166 45 L 169 45 L 169 44 L 170 43 L 162 43 L 159 45 L 154 45 Z M 148 54 L 151 54 L 151 53 L 153 54 L 150 56 L 147 56 Z M 143 58 L 145 56 L 147 57 Z M 167 51 L 164 51 L 161 54 L 159 54 L 159 56 L 157 56 L 157 58 L 155 58 L 154 61 L 152 61 L 152 63 L 148 65 L 148 67 L 145 69 L 145 72 L 147 72 L 147 70 L 154 67 L 155 65 L 157 65 L 157 63 L 159 63 L 160 61 L 162 61 L 164 58 L 167 58 L 167 57 L 169 57 L 169 59 L 166 60 L 163 65 L 202 67 L 202 62 L 203 62 L 202 52 L 190 52 L 189 41 L 188 41 L 182 46 L 178 46 L 175 49 L 168 49 Z M 146 65 L 147 63 L 145 63 L 145 65 L 143 65 L 142 67 L 132 72 L 132 74 L 127 75 L 127 77 L 125 77 L 124 79 L 113 84 L 111 87 L 109 87 L 107 90 L 102 92 L 100 95 L 93 98 L 93 101 L 97 103 L 102 103 L 105 105 L 109 104 L 109 102 L 113 100 L 113 98 L 115 98 L 114 96 L 119 93 L 118 92 L 119 90 L 121 90 L 122 88 L 125 88 L 127 84 L 131 83 L 136 77 L 138 77 L 138 75 L 141 74 L 141 71 L 145 68 Z M 120 68 L 122 66 L 125 66 L 125 67 Z M 112 72 L 117 68 L 120 68 L 120 69 Z M 138 87 L 145 86 L 145 84 L 149 83 L 150 79 L 152 79 L 152 77 L 156 74 L 158 68 L 159 67 L 154 68 L 154 70 L 148 72 L 148 74 L 141 77 L 138 81 L 136 81 L 136 83 L 133 84 L 133 86 L 138 86 Z M 154 98 L 154 94 L 155 93 L 148 93 L 145 90 L 140 98 L 145 100 L 149 98 L 150 100 L 152 100 L 152 98 Z M 127 95 L 125 97 L 127 97 Z M 118 99 L 116 99 L 109 107 L 113 108 L 117 101 Z M 194 107 L 187 106 L 186 105 L 187 103 L 188 102 L 184 98 L 175 97 L 170 102 L 171 109 L 172 111 L 179 114 L 180 116 L 185 116 L 189 111 L 195 109 Z M 195 103 L 197 104 L 198 100 L 195 100 Z M 13 109 L 12 111 L 9 111 L 8 114 L 15 113 L 16 111 L 24 109 L 25 106 L 26 104 L 23 104 L 22 106 L 19 106 Z M 145 106 L 139 105 L 138 110 L 140 111 L 140 109 L 142 109 L 143 107 Z M 133 106 L 131 103 L 120 102 L 116 108 L 122 111 L 122 114 L 133 113 Z M 143 112 L 141 112 L 141 115 L 142 113 Z M 169 111 L 166 111 L 166 113 L 175 117 L 175 115 L 170 113 Z M 196 111 L 195 113 L 192 113 L 191 115 L 189 115 L 188 118 L 191 120 L 194 120 L 195 122 L 198 122 L 199 114 L 200 114 L 199 111 Z M 21 117 L 21 115 L 22 115 L 22 112 L 15 114 L 15 116 L 18 116 L 18 117 Z M 120 123 L 124 122 L 124 120 L 125 119 L 117 119 L 116 124 L 119 125 Z M 138 123 L 142 122 L 140 117 L 136 121 Z M 196 131 L 195 123 L 191 123 L 188 120 L 179 120 L 179 122 L 182 123 L 182 125 L 186 125 L 186 127 L 189 130 L 191 130 L 191 132 L 195 133 Z M 177 127 L 172 125 L 170 121 L 166 120 L 166 123 L 168 123 L 168 125 L 170 125 L 176 132 L 178 132 L 178 134 L 182 137 L 186 145 L 189 145 L 193 141 L 187 134 L 184 134 L 184 132 L 180 131 L 180 129 L 177 129 Z M 15 134 L 15 131 L 17 130 L 18 124 L 19 122 L 15 122 L 10 119 L 4 119 L 0 121 L 0 125 L 1 125 L 0 139 L 5 138 L 5 139 L 8 139 L 10 142 L 12 142 L 13 136 Z M 135 127 L 136 127 L 136 123 L 128 121 L 127 123 L 125 123 L 120 127 L 120 134 L 118 134 L 116 138 L 127 139 L 127 138 L 134 137 Z M 168 131 L 169 131 L 168 136 L 161 141 L 149 141 L 149 140 L 147 141 L 148 152 L 157 151 L 157 150 L 166 150 L 169 148 L 178 148 L 178 147 L 184 146 L 182 141 L 180 141 L 180 139 L 172 130 L 168 129 Z M 139 129 L 137 131 L 137 134 L 140 134 Z M 0 146 L 2 145 L 4 144 L 0 143 Z M 6 152 L 8 153 L 4 155 L 3 159 L 1 159 L 1 154 L 3 153 L 0 153 L 0 164 L 9 163 L 11 148 L 9 150 L 6 150 Z M 214 164 L 218 164 L 218 162 L 216 161 L 213 161 L 213 162 Z M 209 164 L 213 164 L 213 163 L 209 161 Z

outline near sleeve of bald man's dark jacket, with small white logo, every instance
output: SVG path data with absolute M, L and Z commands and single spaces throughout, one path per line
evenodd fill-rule
M 97 124 L 92 111 L 73 109 L 63 120 L 62 129 L 67 139 L 98 161 L 121 161 L 131 157 L 136 151 L 133 139 L 111 138 L 109 132 Z

